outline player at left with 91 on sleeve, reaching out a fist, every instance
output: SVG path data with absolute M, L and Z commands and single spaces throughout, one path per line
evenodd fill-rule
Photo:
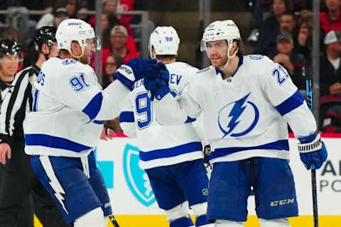
M 88 65 L 95 51 L 91 26 L 68 19 L 55 38 L 59 56 L 43 63 L 34 82 L 33 111 L 23 123 L 25 152 L 68 224 L 106 226 L 112 208 L 93 150 L 103 121 L 119 115 L 134 74 L 154 74 L 156 60 L 127 62 L 114 74 L 117 81 L 102 90 Z

